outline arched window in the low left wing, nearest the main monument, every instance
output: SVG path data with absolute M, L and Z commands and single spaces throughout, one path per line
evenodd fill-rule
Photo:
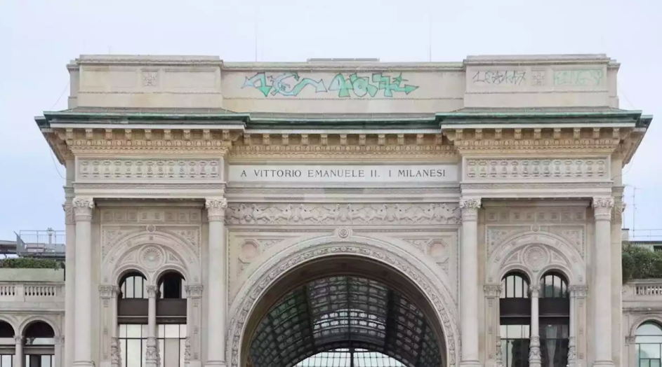
M 53 367 L 55 332 L 44 321 L 34 321 L 23 335 L 25 367 Z

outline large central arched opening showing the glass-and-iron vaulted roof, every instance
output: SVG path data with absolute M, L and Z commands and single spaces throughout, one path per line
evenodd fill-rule
M 444 340 L 434 307 L 402 272 L 327 256 L 293 267 L 258 300 L 241 366 L 446 366 Z

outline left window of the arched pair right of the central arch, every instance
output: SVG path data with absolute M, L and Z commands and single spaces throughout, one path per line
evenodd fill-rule
M 503 366 L 527 367 L 531 335 L 531 299 L 529 279 L 522 273 L 510 272 L 501 279 L 499 307 Z

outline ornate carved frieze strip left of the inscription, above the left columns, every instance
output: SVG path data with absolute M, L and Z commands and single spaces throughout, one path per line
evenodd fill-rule
M 80 159 L 79 179 L 219 179 L 220 160 Z

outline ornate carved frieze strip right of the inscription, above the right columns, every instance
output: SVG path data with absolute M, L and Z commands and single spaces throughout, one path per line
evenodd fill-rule
M 465 179 L 609 179 L 607 158 L 468 159 Z

